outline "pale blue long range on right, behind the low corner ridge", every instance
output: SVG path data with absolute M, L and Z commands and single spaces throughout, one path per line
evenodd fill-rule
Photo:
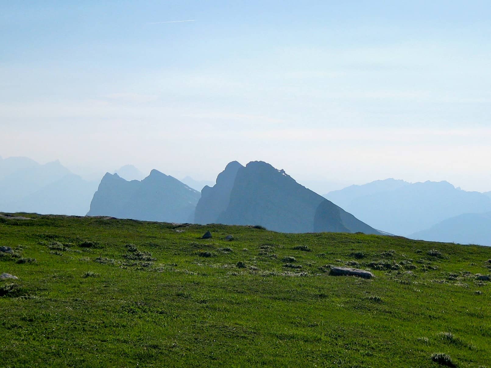
M 410 184 L 386 179 L 352 185 L 325 197 L 360 220 L 392 234 L 409 236 L 463 213 L 491 210 L 491 198 L 448 182 Z

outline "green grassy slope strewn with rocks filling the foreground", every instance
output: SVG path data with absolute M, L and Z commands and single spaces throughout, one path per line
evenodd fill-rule
M 490 247 L 28 216 L 0 218 L 0 245 L 36 259 L 0 257 L 0 273 L 19 276 L 21 287 L 0 298 L 0 366 L 438 367 L 430 356 L 443 352 L 459 367 L 491 367 L 491 288 L 474 277 L 490 273 Z M 198 239 L 206 230 L 213 239 Z M 55 242 L 69 249 L 50 249 Z M 136 254 L 128 243 L 156 260 L 124 258 Z M 284 267 L 286 256 L 302 268 Z M 372 280 L 325 267 L 381 260 L 406 264 L 372 265 Z M 89 271 L 97 275 L 82 277 Z

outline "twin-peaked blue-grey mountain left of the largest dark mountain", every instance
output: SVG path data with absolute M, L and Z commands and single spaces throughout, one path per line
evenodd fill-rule
M 197 190 L 155 169 L 142 181 L 131 182 L 106 173 L 94 193 L 87 216 L 192 222 L 199 198 Z

